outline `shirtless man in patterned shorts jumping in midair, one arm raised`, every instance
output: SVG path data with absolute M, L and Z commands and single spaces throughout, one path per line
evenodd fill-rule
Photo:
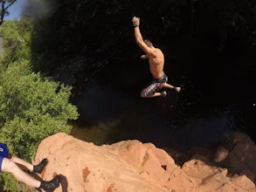
M 163 72 L 163 65 L 164 65 L 164 56 L 163 52 L 154 47 L 152 43 L 145 39 L 143 40 L 142 34 L 140 31 L 140 18 L 133 17 L 132 20 L 134 27 L 135 27 L 135 40 L 137 45 L 142 48 L 142 51 L 146 53 L 146 55 L 142 55 L 141 58 L 149 58 L 149 70 L 153 76 L 153 82 L 150 86 L 142 90 L 141 96 L 142 98 L 152 98 L 152 97 L 165 97 L 166 92 L 158 92 L 163 88 L 174 89 L 176 92 L 181 91 L 181 87 L 171 86 L 167 83 L 167 76 Z

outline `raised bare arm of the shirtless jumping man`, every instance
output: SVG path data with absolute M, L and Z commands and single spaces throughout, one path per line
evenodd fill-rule
M 139 17 L 133 17 L 133 24 L 134 24 L 134 27 L 135 27 L 135 41 L 136 41 L 136 44 L 139 45 L 142 50 L 144 52 L 147 53 L 147 55 L 151 54 L 152 52 L 152 49 L 145 44 L 143 38 L 142 38 L 142 34 L 141 34 L 141 31 L 140 31 L 140 18 Z

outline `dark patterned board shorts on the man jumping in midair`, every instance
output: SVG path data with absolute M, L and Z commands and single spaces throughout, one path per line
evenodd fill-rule
M 158 90 L 163 88 L 163 84 L 168 81 L 168 77 L 163 72 L 163 76 L 160 79 L 153 79 L 150 86 L 142 90 L 142 95 L 144 97 L 150 97 L 154 95 Z

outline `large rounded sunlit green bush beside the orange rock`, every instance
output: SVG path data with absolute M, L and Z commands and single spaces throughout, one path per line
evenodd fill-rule
M 30 160 L 45 137 L 70 132 L 66 121 L 78 116 L 68 102 L 70 87 L 31 73 L 25 61 L 9 65 L 0 78 L 0 140 L 12 153 Z

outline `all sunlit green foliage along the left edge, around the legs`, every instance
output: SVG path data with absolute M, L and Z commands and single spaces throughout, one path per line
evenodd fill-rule
M 71 127 L 77 108 L 70 104 L 71 87 L 43 78 L 31 70 L 30 20 L 6 21 L 0 30 L 3 55 L 0 59 L 0 141 L 11 154 L 31 161 L 45 137 Z M 10 176 L 1 175 L 4 189 L 15 191 Z M 8 182 L 6 182 L 8 181 Z

